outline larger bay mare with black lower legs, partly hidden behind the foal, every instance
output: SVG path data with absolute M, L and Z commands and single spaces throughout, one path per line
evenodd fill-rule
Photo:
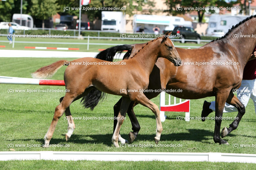
M 225 102 L 231 104 L 238 109 L 237 119 L 235 119 L 230 127 L 222 129 L 222 138 L 238 127 L 242 116 L 245 113 L 244 105 L 232 93 L 233 89 L 239 88 L 242 81 L 244 66 L 250 59 L 251 52 L 256 44 L 256 39 L 244 35 L 255 35 L 256 16 L 251 16 L 241 21 L 237 25 L 229 29 L 228 33 L 223 37 L 211 41 L 210 43 L 197 49 L 180 49 L 176 48 L 183 63 L 190 62 L 188 65 L 174 67 L 168 63 L 166 59 L 159 58 L 150 74 L 148 89 L 150 90 L 178 90 L 182 92 L 168 92 L 172 96 L 182 99 L 199 99 L 209 96 L 215 96 L 216 119 L 214 128 L 214 142 L 219 144 L 228 144 L 227 141 L 220 138 L 220 126 L 222 122 L 222 113 Z M 234 36 L 235 35 L 235 36 Z M 235 38 L 236 36 L 238 38 Z M 242 36 L 241 36 L 242 35 Z M 124 58 L 133 56 L 144 44 L 134 44 L 128 46 L 128 52 Z M 124 50 L 124 48 L 122 48 Z M 252 57 L 252 58 L 251 58 Z M 195 62 L 230 62 L 230 65 L 193 65 Z M 238 65 L 234 63 L 238 62 Z M 233 63 L 233 65 L 231 65 Z M 160 92 L 145 92 L 148 99 L 152 99 Z M 114 116 L 118 114 L 122 99 L 114 106 Z M 132 122 L 133 132 L 129 133 L 129 141 L 132 143 L 136 139 L 140 130 L 140 125 L 133 111 L 136 104 L 131 102 L 128 107 L 128 116 Z M 114 127 L 116 121 L 114 120 Z M 115 129 L 115 128 L 114 128 Z M 119 141 L 125 142 L 121 136 Z

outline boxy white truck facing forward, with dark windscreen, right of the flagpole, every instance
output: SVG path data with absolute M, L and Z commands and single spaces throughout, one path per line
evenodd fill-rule
M 101 20 L 102 31 L 116 31 L 119 33 L 125 33 L 126 31 L 126 19 L 123 12 L 102 11 Z

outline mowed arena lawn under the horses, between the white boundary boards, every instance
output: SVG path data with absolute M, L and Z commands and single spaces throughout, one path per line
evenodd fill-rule
M 60 59 L 54 58 L 0 58 L 0 75 L 30 78 L 30 74 L 42 66 L 46 66 Z M 70 59 L 72 60 L 72 59 Z M 52 79 L 63 80 L 65 66 L 60 68 Z M 74 75 L 75 76 L 75 75 Z M 118 82 L 116 82 L 118 83 Z M 14 90 L 13 93 L 10 92 Z M 156 120 L 154 114 L 146 107 L 136 106 L 135 113 L 140 122 L 141 130 L 134 141 L 138 146 L 114 148 L 111 142 L 113 121 L 113 106 L 120 96 L 108 95 L 94 111 L 84 109 L 80 101 L 71 106 L 76 129 L 68 142 L 65 140 L 67 121 L 64 116 L 58 121 L 50 144 L 60 144 L 64 147 L 42 148 L 44 135 L 54 115 L 54 109 L 59 104 L 59 98 L 64 92 L 15 92 L 15 90 L 58 90 L 64 86 L 32 86 L 32 85 L 0 85 L 0 151 L 113 151 L 113 152 L 227 152 L 255 154 L 254 147 L 235 147 L 234 144 L 256 144 L 256 116 L 252 101 L 246 107 L 246 114 L 240 121 L 238 129 L 224 139 L 230 145 L 218 145 L 213 141 L 214 120 L 177 120 L 177 116 L 184 113 L 166 112 L 167 119 L 162 123 L 163 132 L 160 144 L 154 146 L 156 134 Z M 9 92 L 9 93 L 8 93 Z M 212 101 L 214 97 L 191 100 L 190 116 L 201 115 L 204 100 Z M 152 100 L 159 106 L 159 96 Z M 224 113 L 223 117 L 234 117 L 237 113 Z M 105 117 L 105 120 L 85 120 L 83 117 Z M 214 114 L 211 115 L 214 117 Z M 121 135 L 128 139 L 132 131 L 131 123 L 126 116 L 121 127 Z M 229 127 L 233 120 L 223 120 L 222 126 Z M 19 145 L 22 144 L 22 145 Z M 68 144 L 68 145 L 66 145 Z M 176 145 L 176 147 L 172 145 Z M 66 145 L 66 146 L 65 146 Z M 141 146 L 144 147 L 141 147 Z M 151 145 L 151 146 L 150 146 Z M 166 147 L 169 145 L 169 147 Z M 170 146 L 171 145 L 171 146 Z M 181 146 L 182 145 L 182 146 Z M 68 147 L 67 147 L 68 146 Z M 178 147 L 179 146 L 179 147 Z

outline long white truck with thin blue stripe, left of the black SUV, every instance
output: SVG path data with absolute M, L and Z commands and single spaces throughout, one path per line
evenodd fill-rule
M 158 26 L 160 31 L 164 31 L 173 30 L 175 26 L 192 27 L 192 22 L 177 16 L 134 15 L 132 26 L 134 32 L 143 30 L 147 33 L 153 33 L 155 26 Z

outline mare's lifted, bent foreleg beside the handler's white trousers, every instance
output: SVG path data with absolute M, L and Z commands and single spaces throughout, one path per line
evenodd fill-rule
M 238 115 L 236 116 L 236 119 L 229 125 L 229 128 L 224 127 L 222 129 L 221 131 L 222 138 L 230 134 L 231 131 L 235 130 L 238 127 L 238 124 L 245 113 L 244 105 L 238 100 L 238 98 L 232 92 L 230 92 L 228 96 L 227 103 L 238 109 Z

